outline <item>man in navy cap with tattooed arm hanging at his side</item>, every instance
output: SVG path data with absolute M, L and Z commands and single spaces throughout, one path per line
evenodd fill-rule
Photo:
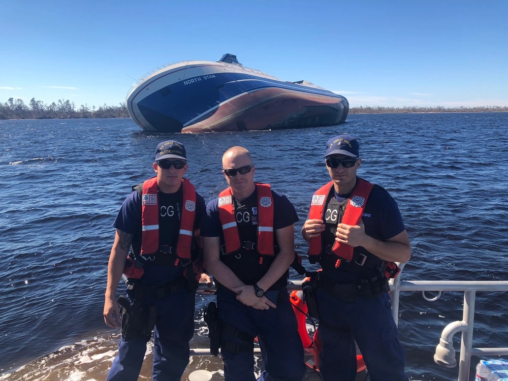
M 104 320 L 122 337 L 107 381 L 138 379 L 153 329 L 153 380 L 180 380 L 189 361 L 205 202 L 183 178 L 183 144 L 158 144 L 152 168 L 156 176 L 133 187 L 113 224 Z M 122 273 L 130 290 L 117 302 Z

